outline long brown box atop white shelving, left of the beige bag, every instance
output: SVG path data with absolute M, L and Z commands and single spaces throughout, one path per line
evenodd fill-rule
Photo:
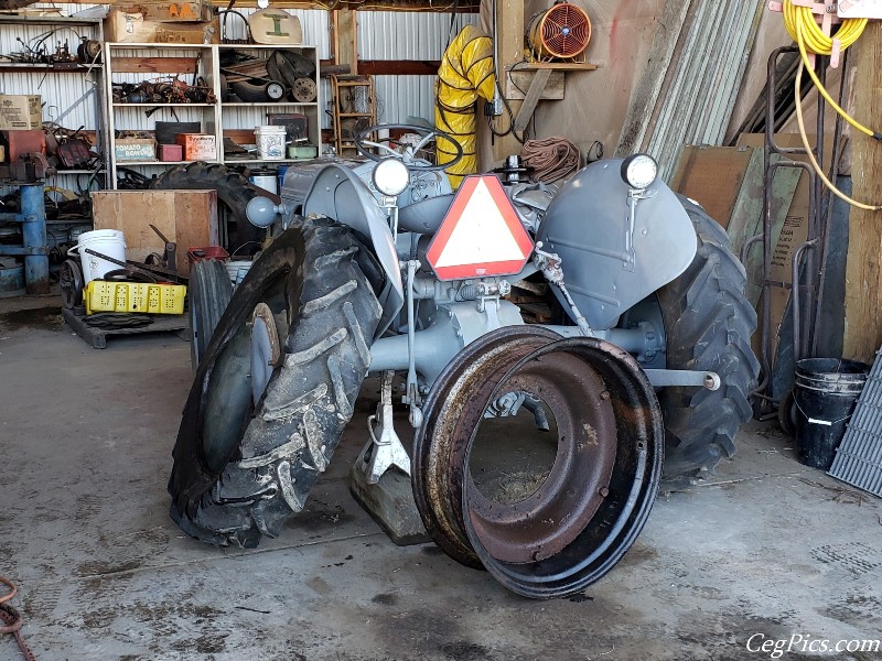
M 160 22 L 144 19 L 143 13 L 111 9 L 104 22 L 109 42 L 141 44 L 216 44 L 220 30 L 217 19 L 207 22 Z

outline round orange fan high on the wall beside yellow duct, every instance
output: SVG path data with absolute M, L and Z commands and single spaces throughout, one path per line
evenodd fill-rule
M 527 41 L 539 59 L 572 59 L 591 41 L 591 19 L 576 4 L 557 2 L 530 19 Z

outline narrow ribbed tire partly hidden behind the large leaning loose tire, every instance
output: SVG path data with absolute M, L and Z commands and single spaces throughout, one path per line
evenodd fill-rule
M 224 262 L 208 259 L 194 263 L 186 291 L 190 300 L 190 362 L 196 371 L 233 297 L 233 284 Z

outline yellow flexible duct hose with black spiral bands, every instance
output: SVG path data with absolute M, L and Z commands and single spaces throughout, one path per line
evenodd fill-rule
M 450 43 L 435 83 L 434 126 L 462 145 L 463 158 L 447 169 L 448 178 L 458 188 L 466 174 L 477 172 L 477 97 L 493 99 L 493 40 L 474 25 L 466 25 Z M 450 140 L 435 142 L 438 163 L 449 163 L 456 155 Z

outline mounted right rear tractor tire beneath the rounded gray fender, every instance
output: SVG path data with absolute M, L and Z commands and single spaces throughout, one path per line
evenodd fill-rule
M 667 367 L 716 371 L 722 386 L 662 391 L 669 485 L 700 478 L 735 453 L 735 433 L 753 414 L 747 397 L 760 371 L 751 349 L 756 313 L 744 296 L 744 267 L 722 227 L 700 206 L 681 202 L 695 225 L 698 251 L 686 272 L 656 292 Z

